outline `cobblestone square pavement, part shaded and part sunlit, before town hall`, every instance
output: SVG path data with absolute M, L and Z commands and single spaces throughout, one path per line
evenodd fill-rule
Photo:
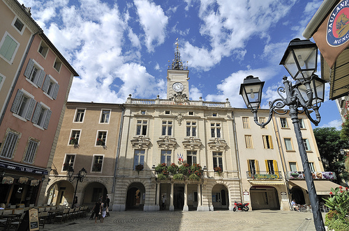
M 325 214 L 322 214 L 325 219 Z M 315 231 L 313 214 L 309 212 L 284 212 L 256 210 L 249 212 L 140 212 L 110 211 L 104 223 L 80 218 L 67 223 L 46 224 L 44 229 L 55 231 L 99 230 L 278 230 Z

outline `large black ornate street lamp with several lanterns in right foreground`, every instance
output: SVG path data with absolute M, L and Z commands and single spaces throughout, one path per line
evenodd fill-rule
M 314 74 L 316 71 L 317 56 L 318 48 L 313 42 L 309 40 L 299 40 L 299 38 L 290 42 L 280 64 L 288 70 L 296 83 L 292 86 L 292 83 L 288 81 L 287 77 L 283 77 L 284 87 L 278 88 L 280 98 L 274 99 L 273 102 L 269 102 L 269 118 L 266 122 L 258 122 L 257 116 L 262 101 L 262 87 L 264 82 L 260 81 L 258 77 L 253 77 L 251 75 L 246 77 L 244 83 L 241 84 L 240 95 L 242 95 L 247 108 L 251 109 L 253 112 L 253 120 L 261 127 L 264 127 L 270 122 L 273 113 L 285 115 L 288 111 L 281 109 L 285 106 L 289 107 L 289 114 L 295 128 L 299 154 L 302 159 L 315 229 L 317 231 L 323 231 L 325 230 L 325 225 L 322 221 L 318 196 L 316 195 L 298 120 L 298 113 L 304 112 L 314 125 L 318 125 L 320 122 L 320 113 L 318 109 L 320 108 L 321 102 L 324 101 L 325 81 Z M 283 97 L 281 93 L 285 93 L 286 97 Z M 309 110 L 315 111 L 315 120 L 311 118 Z

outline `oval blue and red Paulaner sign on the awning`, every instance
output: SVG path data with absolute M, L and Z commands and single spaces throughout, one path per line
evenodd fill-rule
M 341 1 L 329 15 L 326 40 L 328 45 L 339 47 L 349 41 L 349 1 Z

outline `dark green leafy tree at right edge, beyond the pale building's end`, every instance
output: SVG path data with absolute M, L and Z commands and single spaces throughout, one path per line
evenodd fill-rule
M 316 143 L 322 160 L 327 159 L 324 163 L 325 171 L 336 173 L 336 183 L 349 179 L 349 173 L 344 166 L 346 155 L 341 154 L 342 148 L 348 148 L 348 140 L 341 139 L 341 131 L 335 127 L 317 127 L 313 130 Z

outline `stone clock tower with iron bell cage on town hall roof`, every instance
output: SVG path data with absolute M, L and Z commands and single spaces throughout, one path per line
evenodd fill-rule
M 189 83 L 188 83 L 188 67 L 181 62 L 181 54 L 179 53 L 178 38 L 176 40 L 176 51 L 174 51 L 174 59 L 172 65 L 168 65 L 168 93 L 167 98 L 173 99 L 175 102 L 185 102 L 189 99 Z M 170 61 L 168 61 L 170 62 Z

